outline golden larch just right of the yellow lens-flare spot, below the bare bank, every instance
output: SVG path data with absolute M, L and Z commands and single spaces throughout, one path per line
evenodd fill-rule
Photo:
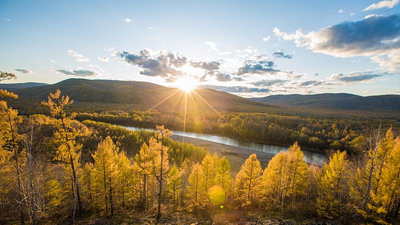
M 240 176 L 236 175 L 236 179 L 240 179 L 239 182 L 243 182 L 242 188 L 244 188 L 238 197 L 245 201 L 246 204 L 251 203 L 251 199 L 255 195 L 253 189 L 259 184 L 261 172 L 262 168 L 257 156 L 251 154 L 241 165 L 238 173 Z

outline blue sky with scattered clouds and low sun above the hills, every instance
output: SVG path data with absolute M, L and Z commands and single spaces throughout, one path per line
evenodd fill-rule
M 400 94 L 400 0 L 1 0 L 0 16 L 8 83 Z

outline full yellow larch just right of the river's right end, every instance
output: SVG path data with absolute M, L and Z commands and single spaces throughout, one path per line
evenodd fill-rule
M 348 191 L 349 161 L 346 151 L 337 150 L 323 164 L 320 185 L 318 187 L 317 212 L 320 216 L 335 218 L 346 206 Z

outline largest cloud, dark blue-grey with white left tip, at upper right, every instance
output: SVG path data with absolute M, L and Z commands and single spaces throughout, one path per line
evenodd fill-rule
M 370 56 L 380 66 L 393 70 L 400 65 L 400 14 L 367 16 L 308 33 L 286 33 L 277 27 L 273 31 L 276 36 L 314 52 L 336 57 Z

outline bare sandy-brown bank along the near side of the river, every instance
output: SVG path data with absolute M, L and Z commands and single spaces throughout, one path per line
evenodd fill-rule
M 209 140 L 198 139 L 194 137 L 187 137 L 181 135 L 172 135 L 172 139 L 184 142 L 190 142 L 194 145 L 202 146 L 206 148 L 211 154 L 217 153 L 219 157 L 225 156 L 229 160 L 232 172 L 237 172 L 240 169 L 240 165 L 243 164 L 244 160 L 248 158 L 250 154 L 255 153 L 258 160 L 261 163 L 262 168 L 268 165 L 269 160 L 274 154 L 263 151 L 257 151 L 248 149 L 245 147 L 238 147 L 232 145 L 226 145 Z

